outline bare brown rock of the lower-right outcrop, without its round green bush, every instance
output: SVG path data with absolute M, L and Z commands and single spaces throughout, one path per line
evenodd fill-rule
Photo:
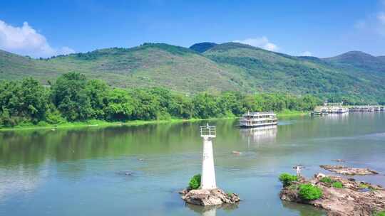
M 330 183 L 320 180 L 327 176 L 332 181 L 339 181 L 343 188 L 334 188 Z M 299 198 L 298 185 L 311 183 L 322 189 L 322 197 L 318 200 L 302 200 Z M 374 212 L 385 210 L 385 189 L 379 185 L 371 185 L 364 182 L 356 182 L 353 178 L 345 179 L 339 176 L 318 174 L 307 180 L 300 178 L 298 182 L 292 183 L 281 190 L 281 200 L 306 203 L 327 210 L 328 215 L 333 216 L 366 216 Z

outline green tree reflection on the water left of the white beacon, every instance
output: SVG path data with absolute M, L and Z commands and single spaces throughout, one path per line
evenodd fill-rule
M 152 124 L 0 133 L 0 164 L 75 161 L 98 156 L 124 156 L 183 151 L 200 144 L 197 123 Z M 200 148 L 200 145 L 196 145 Z

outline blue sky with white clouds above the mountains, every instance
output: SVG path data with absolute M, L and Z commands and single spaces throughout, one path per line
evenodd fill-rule
M 231 41 L 320 58 L 385 55 L 385 0 L 0 0 L 0 49 L 34 58 Z

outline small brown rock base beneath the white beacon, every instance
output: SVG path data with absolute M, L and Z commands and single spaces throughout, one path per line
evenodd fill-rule
M 212 190 L 189 190 L 187 193 L 185 190 L 183 190 L 181 193 L 184 193 L 184 195 L 182 196 L 183 200 L 194 205 L 222 205 L 226 203 L 232 204 L 240 202 L 240 198 L 237 194 L 227 194 L 219 188 L 215 188 Z

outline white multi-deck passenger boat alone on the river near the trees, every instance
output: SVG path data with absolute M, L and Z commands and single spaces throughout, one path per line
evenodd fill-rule
M 277 114 L 274 112 L 247 112 L 240 119 L 242 127 L 276 125 L 277 123 Z

